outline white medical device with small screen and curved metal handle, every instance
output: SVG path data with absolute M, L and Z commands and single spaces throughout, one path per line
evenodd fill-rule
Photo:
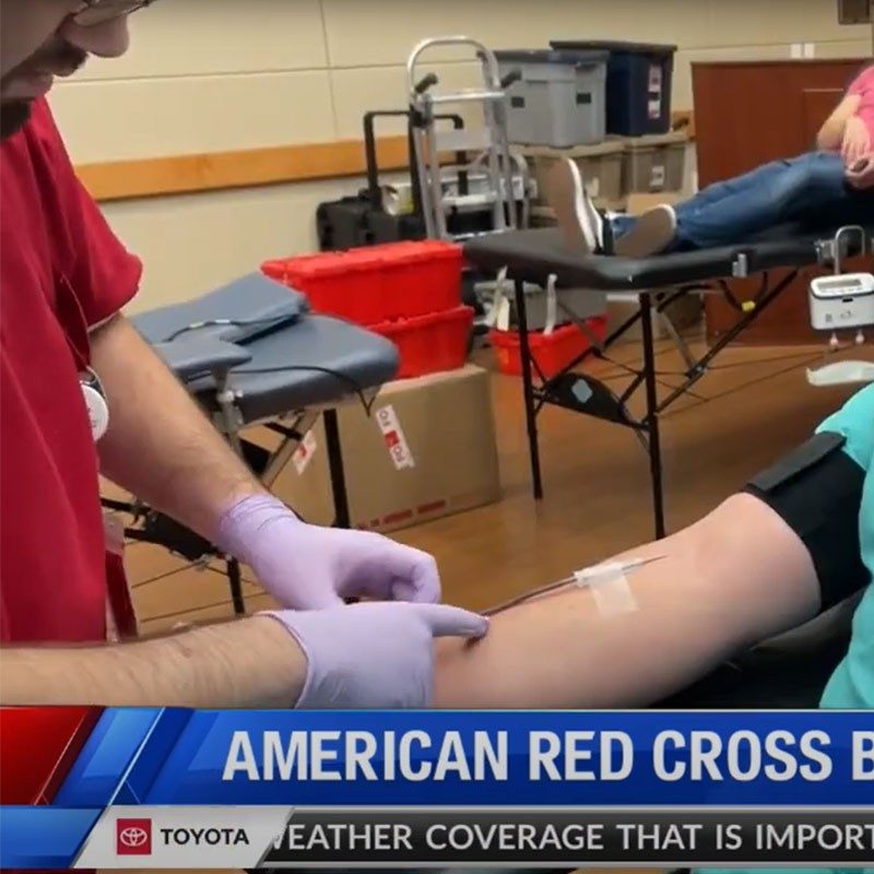
M 842 227 L 831 244 L 835 273 L 816 276 L 811 282 L 811 324 L 817 331 L 874 326 L 874 275 L 871 273 L 841 273 L 841 239 L 858 234 L 862 240 L 862 255 L 867 252 L 867 237 L 861 227 Z

